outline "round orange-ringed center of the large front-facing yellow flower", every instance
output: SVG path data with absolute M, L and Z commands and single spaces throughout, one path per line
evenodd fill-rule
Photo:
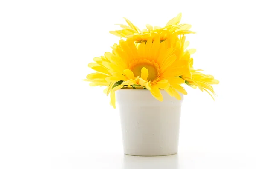
M 134 73 L 135 77 L 141 76 L 141 69 L 143 67 L 148 69 L 148 81 L 153 82 L 160 76 L 159 66 L 154 62 L 154 60 L 135 60 L 129 64 L 129 68 Z

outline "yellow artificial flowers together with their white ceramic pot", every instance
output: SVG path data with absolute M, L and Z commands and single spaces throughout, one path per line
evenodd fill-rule
M 212 75 L 194 69 L 195 49 L 187 49 L 186 34 L 191 25 L 180 24 L 181 14 L 164 27 L 146 25 L 140 30 L 128 19 L 112 52 L 95 57 L 89 67 L 90 86 L 105 86 L 111 105 L 119 103 L 123 146 L 129 155 L 171 155 L 177 153 L 183 88 L 199 88 L 214 98 Z

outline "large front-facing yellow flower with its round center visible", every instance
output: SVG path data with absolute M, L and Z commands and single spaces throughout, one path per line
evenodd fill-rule
M 180 39 L 176 40 L 175 43 L 181 44 Z M 182 53 L 177 53 L 180 46 L 169 48 L 169 41 L 161 42 L 159 36 L 137 45 L 124 40 L 119 44 L 113 46 L 112 53 L 94 58 L 95 63 L 88 66 L 98 73 L 87 75 L 91 86 L 107 86 L 105 92 L 110 93 L 113 107 L 114 92 L 124 87 L 146 88 L 160 101 L 163 101 L 160 89 L 177 99 L 181 99 L 178 92 L 187 94 L 180 86 L 185 83 L 180 76 L 189 72 L 189 66 L 186 60 L 177 59 L 182 57 Z

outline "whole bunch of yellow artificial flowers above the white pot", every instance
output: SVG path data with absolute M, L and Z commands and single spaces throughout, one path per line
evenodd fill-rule
M 186 49 L 189 42 L 185 41 L 185 34 L 195 32 L 189 30 L 191 25 L 179 24 L 180 19 L 178 14 L 163 28 L 146 25 L 147 29 L 140 31 L 125 18 L 128 25 L 120 25 L 122 30 L 111 34 L 126 40 L 114 44 L 112 52 L 95 57 L 88 66 L 96 73 L 88 74 L 85 80 L 91 82 L 90 86 L 106 86 L 104 92 L 110 94 L 114 108 L 115 92 L 122 88 L 148 89 L 160 101 L 163 101 L 160 89 L 181 99 L 180 93 L 187 94 L 183 83 L 215 95 L 211 85 L 219 81 L 193 68 L 191 55 L 196 50 Z

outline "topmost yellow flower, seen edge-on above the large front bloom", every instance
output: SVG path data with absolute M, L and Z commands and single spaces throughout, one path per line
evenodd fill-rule
M 192 31 L 189 31 L 191 28 L 191 25 L 189 24 L 180 24 L 181 20 L 181 13 L 177 15 L 177 17 L 169 20 L 169 22 L 166 24 L 165 27 L 161 28 L 159 26 L 151 26 L 149 24 L 146 25 L 147 29 L 143 29 L 140 31 L 136 26 L 134 26 L 131 21 L 124 18 L 127 22 L 127 25 L 120 24 L 122 30 L 116 30 L 116 31 L 110 31 L 111 34 L 114 34 L 118 37 L 127 38 L 127 40 L 131 40 L 137 43 L 142 43 L 144 41 L 147 41 L 148 38 L 154 39 L 156 37 L 160 37 L 160 41 L 164 41 L 167 39 L 168 34 L 174 34 L 181 35 L 181 34 L 190 34 L 195 33 Z

